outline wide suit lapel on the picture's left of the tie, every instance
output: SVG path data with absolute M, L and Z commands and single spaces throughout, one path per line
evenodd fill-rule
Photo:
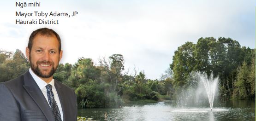
M 42 113 L 45 115 L 48 121 L 54 120 L 54 116 L 50 106 L 44 97 L 41 89 L 36 84 L 36 81 L 30 75 L 30 72 L 27 71 L 24 74 L 24 85 L 23 87 L 29 93 L 30 97 L 36 102 L 38 107 L 42 110 Z

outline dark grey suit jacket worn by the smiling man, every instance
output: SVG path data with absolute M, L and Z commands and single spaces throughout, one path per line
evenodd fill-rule
M 77 121 L 74 90 L 54 80 L 64 121 Z M 54 121 L 50 106 L 36 81 L 27 71 L 18 78 L 0 84 L 0 121 Z

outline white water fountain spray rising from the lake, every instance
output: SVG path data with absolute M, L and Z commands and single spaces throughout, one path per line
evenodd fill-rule
M 193 72 L 191 78 L 178 95 L 178 107 L 202 107 L 210 105 L 213 109 L 214 96 L 218 92 L 218 80 L 211 74 L 208 78 L 206 73 Z

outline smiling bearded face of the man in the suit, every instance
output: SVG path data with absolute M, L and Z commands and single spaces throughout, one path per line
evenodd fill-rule
M 31 69 L 42 78 L 52 77 L 62 58 L 59 53 L 59 42 L 55 36 L 36 35 L 32 48 L 26 48 Z

